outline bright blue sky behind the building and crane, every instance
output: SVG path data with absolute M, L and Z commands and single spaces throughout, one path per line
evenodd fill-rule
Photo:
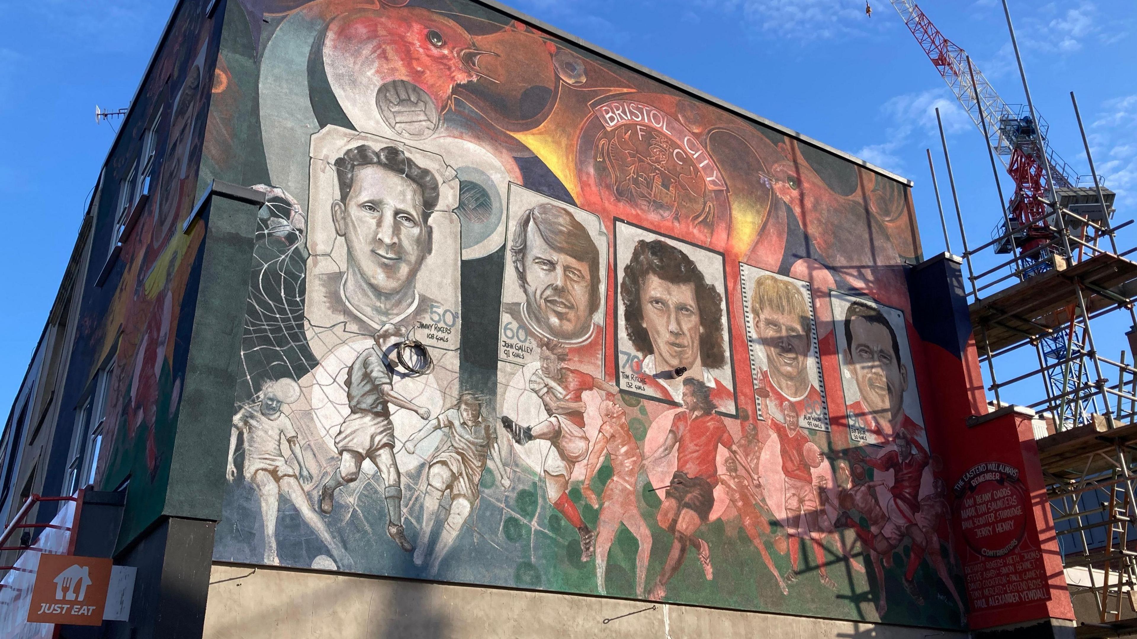
M 1010 0 L 1036 107 L 1051 142 L 1088 173 L 1070 106 L 1078 94 L 1098 173 L 1137 205 L 1137 6 L 1128 0 Z M 899 173 L 924 254 L 944 250 L 924 149 L 954 214 L 933 110 L 940 108 L 972 246 L 1001 217 L 982 136 L 895 9 L 871 0 L 507 0 L 543 22 L 741 108 Z M 972 56 L 1007 102 L 1023 102 L 997 0 L 921 8 Z M 114 138 L 94 106 L 127 106 L 172 0 L 0 0 L 0 406 L 7 413 Z M 1004 177 L 1004 191 L 1010 182 Z M 1132 227 L 1120 233 L 1137 244 Z M 960 251 L 953 227 L 953 248 Z M 977 269 L 982 268 L 982 260 Z M 993 262 L 989 262 L 994 264 Z M 1126 348 L 1128 320 L 1095 324 L 1101 351 Z M 1101 326 L 1101 327 L 1099 327 Z M 1130 355 L 1131 357 L 1131 355 Z M 1002 374 L 1001 374 L 1002 376 Z M 1006 400 L 1007 398 L 1004 398 Z

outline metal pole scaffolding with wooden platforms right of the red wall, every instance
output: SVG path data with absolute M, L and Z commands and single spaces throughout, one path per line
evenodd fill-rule
M 1030 224 L 1011 223 L 1004 207 L 994 236 L 963 254 L 993 404 L 1037 415 L 1067 581 L 1072 594 L 1093 594 L 1097 625 L 1082 626 L 1086 636 L 1137 629 L 1137 367 L 1123 350 L 1114 358 L 1102 352 L 1094 329 L 1118 312 L 1137 325 L 1137 262 L 1128 258 L 1137 248 L 1119 251 L 1117 232 L 1132 221 L 1113 226 L 1113 192 L 1096 176 L 1094 183 L 1053 189 L 1039 198 L 1045 215 Z M 991 254 L 996 264 L 974 268 L 976 258 Z M 1021 367 L 1028 359 L 1037 365 L 999 376 L 1002 362 Z

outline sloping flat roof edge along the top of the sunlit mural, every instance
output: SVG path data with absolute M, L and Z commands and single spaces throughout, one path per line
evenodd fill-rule
M 893 173 L 891 171 L 881 168 L 881 167 L 879 167 L 879 166 L 877 166 L 877 165 L 874 165 L 872 163 L 865 161 L 865 160 L 863 160 L 863 159 L 861 159 L 861 158 L 858 158 L 858 157 L 856 157 L 856 156 L 854 156 L 854 155 L 852 155 L 852 153 L 849 153 L 847 151 L 843 151 L 840 149 L 837 149 L 835 147 L 825 144 L 824 142 L 815 140 L 815 139 L 813 139 L 813 138 L 811 138 L 811 136 L 808 136 L 808 135 L 806 135 L 806 134 L 804 134 L 804 133 L 802 133 L 799 131 L 795 131 L 795 130 L 792 130 L 792 128 L 790 128 L 788 126 L 783 126 L 781 124 L 778 124 L 777 122 L 772 122 L 770 119 L 766 119 L 766 118 L 764 118 L 764 117 L 762 117 L 762 116 L 760 116 L 757 114 L 753 114 L 753 113 L 750 113 L 750 111 L 748 111 L 748 110 L 746 110 L 746 109 L 744 109 L 741 107 L 735 106 L 735 105 L 732 105 L 732 103 L 730 103 L 730 102 L 728 102 L 725 100 L 722 100 L 720 98 L 715 98 L 714 96 L 711 96 L 709 93 L 706 93 L 705 91 L 700 91 L 698 89 L 695 89 L 694 86 L 689 86 L 687 84 L 683 84 L 682 82 L 679 82 L 678 80 L 667 77 L 666 75 L 663 75 L 662 73 L 658 73 L 656 70 L 649 69 L 649 68 L 645 67 L 644 65 L 640 65 L 638 63 L 633 63 L 633 61 L 629 60 L 628 58 L 624 58 L 623 56 L 619 56 L 616 53 L 613 53 L 612 51 L 608 51 L 607 49 L 605 49 L 603 47 L 598 47 L 596 44 L 592 44 L 591 42 L 588 42 L 587 40 L 582 40 L 580 38 L 576 38 L 575 35 L 573 35 L 571 33 L 567 33 L 567 32 L 565 32 L 565 31 L 563 31 L 561 28 L 557 28 L 557 27 L 555 27 L 555 26 L 553 26 L 550 24 L 546 24 L 545 22 L 541 22 L 541 20 L 539 20 L 539 19 L 537 19 L 537 18 L 534 18 L 534 17 L 528 15 L 528 14 L 518 11 L 517 9 L 514 9 L 513 7 L 504 5 L 504 3 L 499 2 L 498 0 L 470 0 L 470 1 L 473 2 L 473 3 L 475 3 L 475 5 L 482 5 L 484 7 L 493 9 L 496 11 L 500 11 L 500 13 L 503 13 L 503 14 L 505 14 L 505 15 L 512 17 L 512 18 L 515 18 L 517 20 L 521 20 L 523 23 L 528 23 L 529 25 L 531 25 L 531 26 L 533 26 L 536 28 L 539 28 L 539 30 L 541 30 L 543 32 L 547 32 L 547 33 L 550 33 L 553 35 L 556 35 L 557 38 L 567 40 L 568 42 L 572 42 L 573 44 L 575 44 L 575 45 L 578 45 L 578 47 L 580 47 L 582 49 L 587 49 L 587 50 L 591 51 L 592 53 L 596 53 L 597 56 L 600 56 L 603 58 L 607 58 L 608 60 L 611 60 L 611 61 L 613 61 L 613 63 L 615 63 L 617 65 L 628 67 L 631 70 L 634 70 L 637 73 L 644 74 L 644 75 L 650 77 L 652 80 L 655 80 L 655 81 L 661 82 L 661 83 L 663 83 L 663 84 L 665 84 L 667 86 L 671 86 L 672 89 L 677 89 L 679 91 L 682 91 L 683 93 L 688 93 L 690 96 L 694 96 L 694 97 L 696 97 L 696 98 L 698 98 L 700 100 L 707 101 L 707 102 L 709 102 L 709 103 L 712 103 L 712 105 L 714 105 L 714 106 L 716 106 L 716 107 L 719 107 L 721 109 L 731 111 L 735 115 L 741 116 L 741 117 L 744 117 L 746 119 L 749 119 L 752 122 L 755 122 L 757 124 L 762 124 L 764 126 L 769 126 L 769 127 L 774 128 L 777 131 L 780 131 L 780 132 L 782 132 L 782 133 L 785 133 L 787 135 L 790 135 L 792 138 L 797 138 L 798 140 L 800 140 L 803 142 L 812 144 L 814 147 L 818 147 L 819 149 L 823 149 L 825 151 L 829 151 L 829 152 L 831 152 L 831 153 L 833 153 L 836 156 L 839 156 L 839 157 L 841 157 L 844 159 L 847 159 L 847 160 L 852 161 L 853 164 L 856 164 L 856 165 L 860 165 L 860 166 L 862 166 L 864 168 L 868 168 L 869 171 L 872 171 L 873 173 L 879 173 L 879 174 L 881 174 L 881 175 L 883 175 L 886 177 L 890 177 L 893 180 L 896 180 L 897 182 L 904 183 L 904 184 L 908 185 L 910 188 L 915 184 L 914 182 L 912 182 L 907 177 L 904 177 L 902 175 L 897 175 L 897 174 Z

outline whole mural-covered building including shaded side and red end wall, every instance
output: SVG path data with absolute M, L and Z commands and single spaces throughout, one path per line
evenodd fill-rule
M 125 493 L 105 637 L 1060 636 L 910 189 L 495 2 L 184 0 L 5 521 Z

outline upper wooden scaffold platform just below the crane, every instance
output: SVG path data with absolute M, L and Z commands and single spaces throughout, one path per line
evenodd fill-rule
M 1128 291 L 1113 289 L 1134 280 L 1137 280 L 1137 263 L 1110 252 L 1039 273 L 971 304 L 969 310 L 976 341 L 981 347 L 986 341 L 986 348 L 994 352 L 1045 337 L 1070 325 L 1069 309 L 1078 304 L 1074 282 L 1084 287 L 1086 312 L 1094 314 L 1127 301 Z

